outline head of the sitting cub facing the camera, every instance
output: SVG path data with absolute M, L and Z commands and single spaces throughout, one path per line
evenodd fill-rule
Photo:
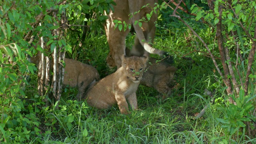
M 122 66 L 126 70 L 127 78 L 134 83 L 140 82 L 146 68 L 147 56 L 122 57 Z

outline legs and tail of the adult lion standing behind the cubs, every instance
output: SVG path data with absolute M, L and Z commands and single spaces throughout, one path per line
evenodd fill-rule
M 150 21 L 142 22 L 141 28 L 138 24 L 134 24 L 136 20 L 142 18 L 147 20 L 146 14 L 149 14 L 152 11 L 157 0 L 114 0 L 114 2 L 116 2 L 116 6 L 113 5 L 114 12 L 110 11 L 107 15 L 108 20 L 106 20 L 106 25 L 104 27 L 108 45 L 110 47 L 110 55 L 112 55 L 117 68 L 121 66 L 121 56 L 122 54 L 125 54 L 125 39 L 130 30 L 128 28 L 126 31 L 120 31 L 118 28 L 114 29 L 115 24 L 113 23 L 113 20 L 120 20 L 121 22 L 125 21 L 126 24 L 132 24 L 136 32 L 135 44 L 132 48 L 133 56 L 142 56 L 143 54 L 148 55 L 148 52 L 158 55 L 163 54 L 164 52 L 162 50 L 152 48 L 152 45 L 148 44 L 149 38 L 151 38 L 151 43 L 153 43 L 154 40 L 156 31 L 154 22 L 157 20 L 157 14 L 153 12 Z M 146 6 L 147 4 L 149 5 Z M 146 7 L 142 8 L 142 6 Z M 129 14 L 134 12 L 138 13 L 130 18 Z

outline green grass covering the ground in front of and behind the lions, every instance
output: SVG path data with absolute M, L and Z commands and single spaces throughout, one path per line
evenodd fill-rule
M 110 110 L 96 110 L 86 106 L 86 102 L 73 101 L 77 90 L 64 88 L 56 109 L 54 106 L 46 107 L 42 98 L 35 95 L 36 76 L 33 76 L 26 91 L 27 97 L 22 99 L 25 108 L 21 108 L 17 114 L 19 117 L 15 117 L 24 122 L 17 124 L 20 129 L 9 129 L 10 132 L 25 132 L 22 128 L 26 127 L 32 133 L 23 142 L 47 144 L 255 143 L 256 139 L 248 138 L 246 134 L 228 134 L 217 120 L 224 118 L 221 109 L 227 106 L 227 96 L 223 82 L 213 71 L 212 60 L 198 52 L 190 53 L 203 48 L 193 40 L 188 42 L 182 37 L 162 37 L 155 39 L 155 47 L 170 52 L 175 59 L 174 66 L 178 68 L 171 84 L 170 98 L 160 100 L 154 88 L 139 86 L 137 98 L 140 110 L 123 115 L 118 106 Z M 109 50 L 107 43 L 102 41 L 106 42 L 104 36 L 90 38 L 85 46 L 89 49 L 82 50 L 79 59 L 96 67 L 101 78 L 113 72 L 106 66 L 105 58 Z M 194 62 L 181 58 L 185 54 Z M 205 89 L 216 90 L 213 98 L 204 94 Z M 196 119 L 196 114 L 206 105 L 205 114 Z M 241 129 L 239 133 L 243 132 Z M 11 143 L 19 142 L 18 134 L 10 135 Z

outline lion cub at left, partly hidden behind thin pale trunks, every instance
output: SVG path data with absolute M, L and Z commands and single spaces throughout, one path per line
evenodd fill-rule
M 31 62 L 36 64 L 36 66 L 38 66 L 40 60 L 41 54 L 31 58 Z M 98 71 L 96 68 L 77 60 L 65 58 L 64 61 L 66 66 L 64 68 L 63 84 L 69 85 L 71 88 L 78 87 L 76 99 L 80 100 L 81 97 L 84 96 L 89 84 L 95 80 L 100 80 Z

